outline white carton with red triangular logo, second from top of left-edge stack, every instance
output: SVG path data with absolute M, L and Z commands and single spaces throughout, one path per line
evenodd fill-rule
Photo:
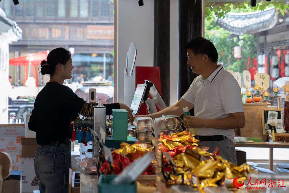
M 21 138 L 22 137 L 0 137 L 0 152 L 4 151 L 9 155 L 21 155 Z

